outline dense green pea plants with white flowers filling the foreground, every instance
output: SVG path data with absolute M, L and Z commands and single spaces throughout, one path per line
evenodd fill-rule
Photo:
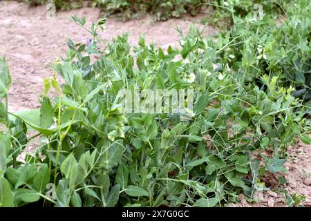
M 93 41 L 68 40 L 32 111 L 8 111 L 1 58 L 0 206 L 224 206 L 267 190 L 260 177 L 286 171 L 287 146 L 311 143 L 310 13 L 300 2 L 281 28 L 241 19 L 216 39 L 178 29 L 180 47 L 167 51 L 143 37 L 132 49 L 127 35 L 102 46 L 106 20 L 88 29 L 73 16 Z M 185 112 L 124 113 L 119 92 L 137 87 L 191 90 L 193 105 L 186 95 Z

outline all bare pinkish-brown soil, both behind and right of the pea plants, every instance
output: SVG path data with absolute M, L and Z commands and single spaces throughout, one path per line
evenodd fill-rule
M 70 12 L 59 12 L 55 19 L 47 19 L 45 6 L 28 8 L 15 1 L 0 1 L 0 56 L 5 55 L 10 66 L 12 86 L 10 88 L 10 111 L 19 111 L 39 107 L 38 98 L 43 93 L 43 79 L 51 77 L 51 64 L 57 56 L 64 55 L 68 49 L 66 39 L 74 42 L 86 42 L 88 32 L 71 21 L 71 15 L 85 16 L 89 23 L 97 21 L 100 10 L 82 8 Z M 167 48 L 178 43 L 179 33 L 176 26 L 187 33 L 191 23 L 198 28 L 205 28 L 205 35 L 217 33 L 215 28 L 202 26 L 200 17 L 171 19 L 153 23 L 151 17 L 127 22 L 108 19 L 104 41 L 109 41 L 124 32 L 129 33 L 129 41 L 136 44 L 140 35 L 145 35 L 148 42 Z M 231 206 L 286 206 L 280 188 L 290 194 L 305 195 L 304 206 L 311 206 L 311 146 L 299 142 L 288 148 L 288 161 L 285 164 L 285 179 L 288 184 L 280 186 L 276 179 L 279 175 L 267 174 L 262 181 L 271 191 L 256 194 L 258 202 L 249 204 L 243 195 L 241 202 Z

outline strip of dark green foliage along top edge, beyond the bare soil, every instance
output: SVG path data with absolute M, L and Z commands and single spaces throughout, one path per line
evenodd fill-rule
M 197 15 L 202 8 L 211 7 L 213 10 L 209 23 L 228 28 L 233 23 L 234 16 L 245 17 L 256 12 L 256 4 L 260 3 L 265 15 L 276 16 L 283 12 L 283 7 L 289 0 L 20 0 L 30 6 L 39 6 L 54 3 L 56 9 L 81 8 L 92 6 L 101 8 L 105 16 L 115 15 L 124 20 L 138 18 L 147 13 L 153 15 L 155 21 L 165 21 L 171 18 L 180 18 L 182 15 Z

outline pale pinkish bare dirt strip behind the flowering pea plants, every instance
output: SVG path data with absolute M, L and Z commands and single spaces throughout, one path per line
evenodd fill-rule
M 10 89 L 10 111 L 39 106 L 38 96 L 43 92 L 43 79 L 52 75 L 50 64 L 68 49 L 66 39 L 85 43 L 88 32 L 71 21 L 71 15 L 85 16 L 88 25 L 100 18 L 100 10 L 82 8 L 69 12 L 57 12 L 55 19 L 47 18 L 46 6 L 28 8 L 15 1 L 0 1 L 0 55 L 5 55 L 10 66 L 12 86 Z M 157 46 L 167 48 L 178 43 L 176 26 L 187 33 L 191 23 L 199 28 L 200 19 L 171 19 L 154 23 L 151 17 L 127 22 L 108 19 L 104 41 L 117 35 L 129 33 L 129 41 L 136 44 L 140 35 Z M 216 29 L 205 27 L 205 33 L 212 35 Z

